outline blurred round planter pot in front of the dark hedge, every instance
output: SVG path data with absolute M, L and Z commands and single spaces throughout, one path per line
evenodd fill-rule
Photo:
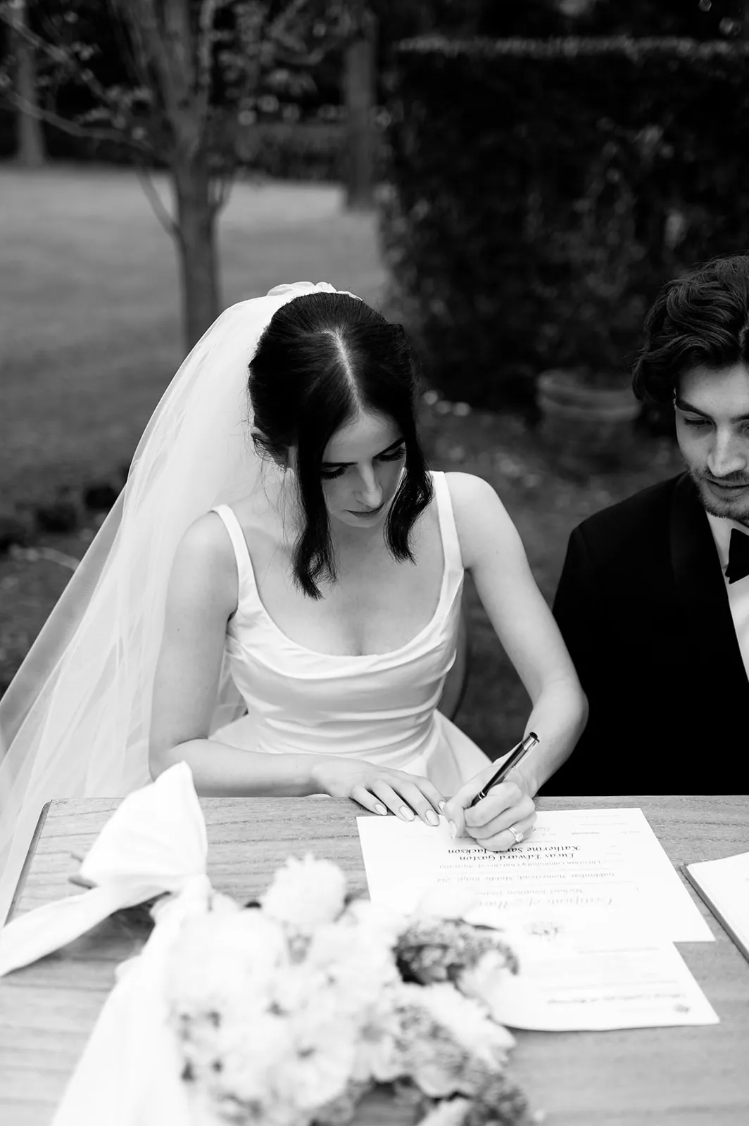
M 641 408 L 628 385 L 559 368 L 538 376 L 536 403 L 544 446 L 561 472 L 612 470 L 632 456 Z

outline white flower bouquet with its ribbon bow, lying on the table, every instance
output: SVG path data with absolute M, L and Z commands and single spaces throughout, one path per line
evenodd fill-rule
M 491 1001 L 517 969 L 499 931 L 445 894 L 395 915 L 346 894 L 326 860 L 291 859 L 241 908 L 206 874 L 181 762 L 123 799 L 86 855 L 90 890 L 0 930 L 0 977 L 113 912 L 153 929 L 116 974 L 52 1126 L 525 1126 Z

